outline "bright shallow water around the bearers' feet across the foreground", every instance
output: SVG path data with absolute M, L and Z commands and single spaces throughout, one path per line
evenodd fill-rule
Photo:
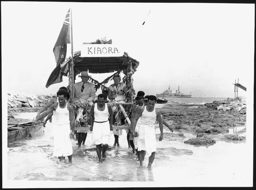
M 16 118 L 33 119 L 36 113 L 21 113 Z M 233 134 L 233 129 L 229 134 Z M 239 136 L 246 135 L 246 128 L 238 126 Z M 159 128 L 156 134 L 160 133 Z M 164 129 L 164 133 L 170 130 Z M 187 140 L 196 134 L 186 131 Z M 165 138 L 166 137 L 166 138 Z M 163 141 L 157 141 L 157 152 L 152 168 L 139 167 L 139 161 L 132 150 L 128 149 L 126 132 L 119 137 L 120 147 L 113 147 L 114 136 L 109 139 L 110 150 L 107 159 L 98 164 L 98 158 L 88 132 L 85 146 L 77 150 L 72 140 L 72 166 L 57 168 L 57 157 L 52 156 L 52 124 L 47 123 L 44 132 L 8 145 L 8 180 L 44 180 L 44 181 L 130 181 L 146 182 L 143 186 L 190 187 L 190 186 L 246 186 L 248 171 L 246 166 L 247 144 L 232 141 L 217 141 L 212 146 L 193 146 L 184 140 L 173 141 L 164 135 Z M 67 158 L 66 158 L 67 159 Z M 149 182 L 154 182 L 149 183 Z M 96 184 L 97 185 L 97 184 Z M 140 186 L 137 184 L 136 186 Z

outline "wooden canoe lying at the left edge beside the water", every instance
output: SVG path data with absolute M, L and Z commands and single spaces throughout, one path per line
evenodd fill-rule
M 33 120 L 21 122 L 14 124 L 13 122 L 8 122 L 8 135 L 7 135 L 7 144 L 19 141 L 25 137 L 32 137 L 35 133 L 42 132 L 43 123 L 38 123 L 35 126 L 32 126 Z

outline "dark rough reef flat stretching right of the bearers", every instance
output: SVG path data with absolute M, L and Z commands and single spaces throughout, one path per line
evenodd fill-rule
M 163 106 L 160 111 L 162 117 L 175 131 L 186 131 L 197 135 L 194 140 L 186 143 L 198 145 L 201 140 L 201 145 L 214 144 L 212 143 L 214 141 L 211 141 L 211 143 L 207 141 L 206 143 L 205 137 L 213 140 L 244 141 L 246 137 L 225 135 L 229 132 L 229 129 L 237 126 L 246 127 L 246 105 L 244 99 L 240 98 L 240 100 L 236 100 L 234 103 L 232 99 L 228 99 L 221 102 L 206 103 L 205 105 L 172 103 Z M 219 109 L 223 105 L 224 107 L 229 107 L 229 105 L 233 107 L 232 109 Z

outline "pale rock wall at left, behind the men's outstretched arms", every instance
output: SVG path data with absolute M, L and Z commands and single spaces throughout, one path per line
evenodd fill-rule
M 8 107 L 43 107 L 57 95 L 32 95 L 24 92 L 8 92 Z

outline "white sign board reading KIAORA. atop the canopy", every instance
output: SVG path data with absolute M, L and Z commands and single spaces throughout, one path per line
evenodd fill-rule
M 80 57 L 122 57 L 124 51 L 113 44 L 83 44 Z

